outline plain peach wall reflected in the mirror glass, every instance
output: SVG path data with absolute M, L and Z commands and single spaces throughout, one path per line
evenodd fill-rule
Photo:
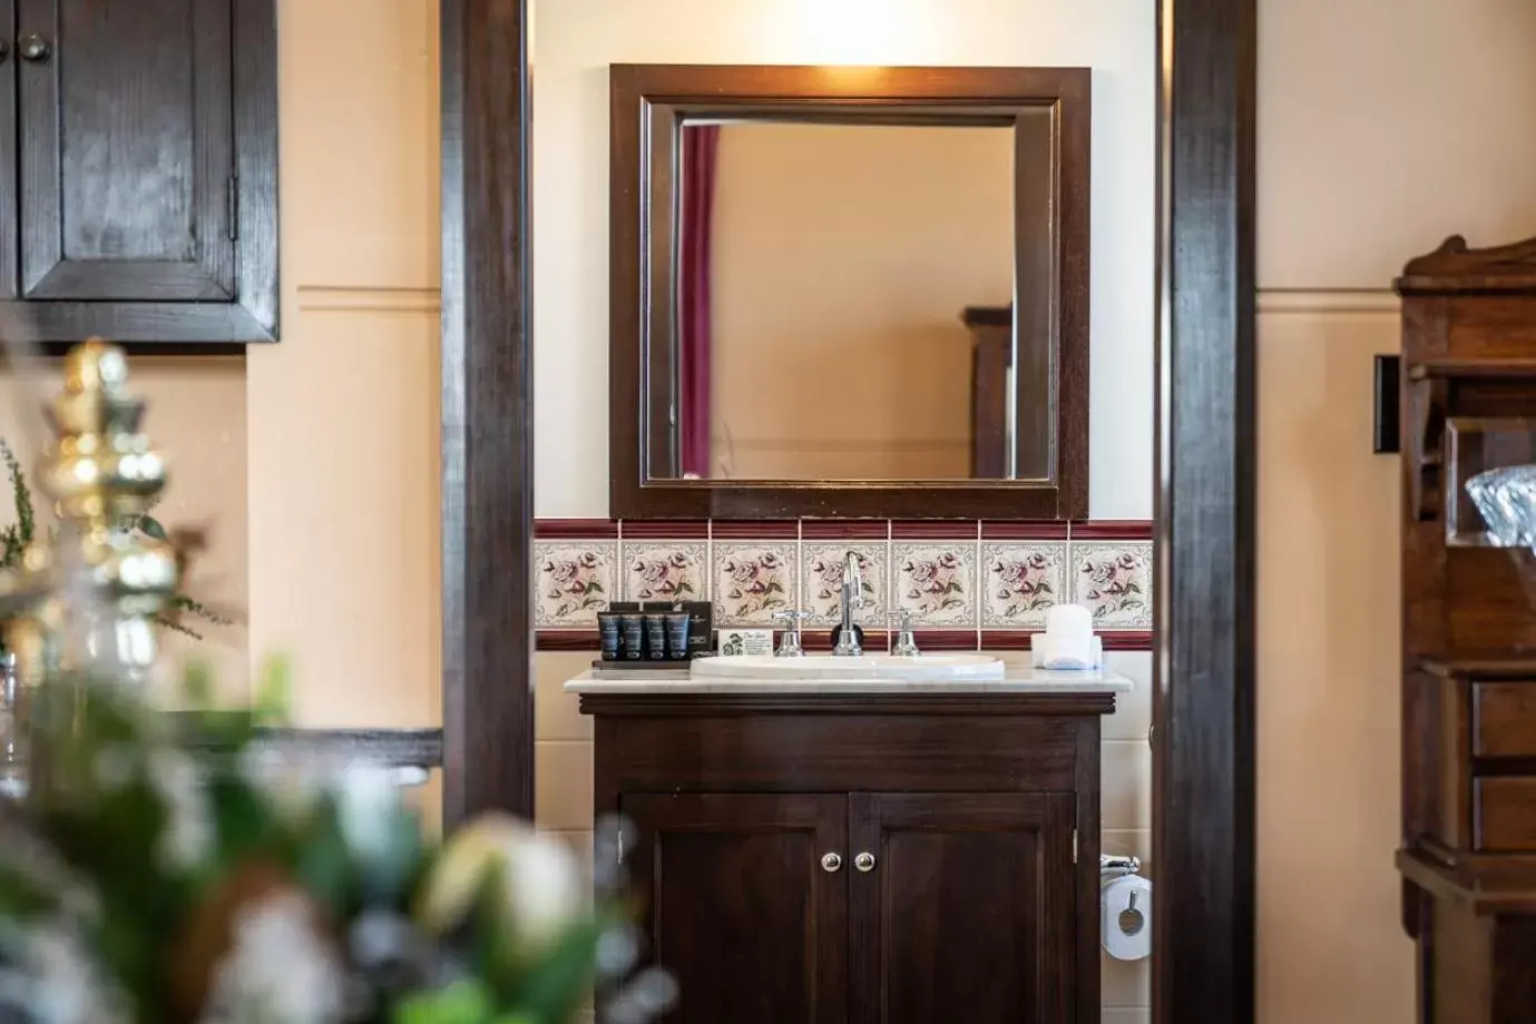
M 969 476 L 960 315 L 1012 302 L 1012 129 L 757 123 L 719 138 L 711 476 Z

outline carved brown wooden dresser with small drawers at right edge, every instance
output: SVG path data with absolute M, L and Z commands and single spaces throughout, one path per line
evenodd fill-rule
M 1419 1019 L 1536 1019 L 1536 556 L 1465 482 L 1528 464 L 1536 239 L 1409 263 L 1402 295 L 1404 926 Z

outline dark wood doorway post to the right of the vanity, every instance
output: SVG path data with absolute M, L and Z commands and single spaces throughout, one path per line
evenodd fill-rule
M 1158 1024 L 1255 1015 L 1255 8 L 1158 11 Z

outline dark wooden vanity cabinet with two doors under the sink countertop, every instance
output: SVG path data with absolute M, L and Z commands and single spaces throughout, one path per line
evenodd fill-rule
M 673 1024 L 1098 1021 L 1114 694 L 584 694 Z

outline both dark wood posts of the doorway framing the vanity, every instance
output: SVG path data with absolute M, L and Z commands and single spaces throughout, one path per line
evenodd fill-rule
M 1154 1019 L 1253 1019 L 1255 0 L 1155 0 Z M 442 11 L 444 815 L 533 814 L 527 0 Z

